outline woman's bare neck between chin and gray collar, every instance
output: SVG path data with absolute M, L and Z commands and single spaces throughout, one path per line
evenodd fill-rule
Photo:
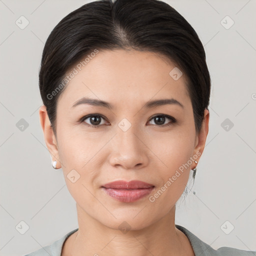
M 76 208 L 79 228 L 73 233 L 62 256 L 194 256 L 189 240 L 175 227 L 175 205 L 167 215 L 145 228 L 125 230 L 124 224 L 122 231 L 103 225 L 78 204 Z

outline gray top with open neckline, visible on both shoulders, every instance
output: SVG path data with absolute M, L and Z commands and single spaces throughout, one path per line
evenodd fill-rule
M 200 240 L 196 235 L 191 233 L 185 227 L 180 225 L 175 226 L 187 236 L 192 245 L 195 256 L 256 256 L 256 250 L 247 251 L 231 247 L 220 247 L 217 250 L 215 250 L 210 245 Z M 68 232 L 60 239 L 54 241 L 52 244 L 42 247 L 24 256 L 60 256 L 64 241 L 67 239 L 69 235 L 71 235 L 77 230 L 78 228 Z

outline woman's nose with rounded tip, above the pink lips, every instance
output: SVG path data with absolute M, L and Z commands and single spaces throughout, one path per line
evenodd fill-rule
M 140 169 L 146 166 L 150 150 L 144 139 L 140 132 L 133 129 L 133 125 L 126 131 L 117 127 L 116 134 L 111 139 L 110 164 L 123 169 Z

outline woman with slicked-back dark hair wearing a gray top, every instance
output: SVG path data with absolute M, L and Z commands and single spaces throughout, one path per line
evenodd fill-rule
M 40 123 L 78 228 L 27 255 L 255 255 L 175 225 L 205 146 L 210 76 L 190 24 L 157 0 L 102 0 L 64 17 L 42 54 Z

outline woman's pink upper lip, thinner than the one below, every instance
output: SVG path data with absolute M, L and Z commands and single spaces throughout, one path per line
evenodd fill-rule
M 137 188 L 149 188 L 153 187 L 154 185 L 140 181 L 140 180 L 115 180 L 109 183 L 102 185 L 105 188 L 119 188 L 119 189 L 137 189 Z

